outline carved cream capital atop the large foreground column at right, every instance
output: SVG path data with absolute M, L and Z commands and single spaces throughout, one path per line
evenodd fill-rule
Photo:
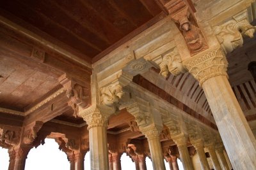
M 204 81 L 214 76 L 228 76 L 228 62 L 220 48 L 205 50 L 203 53 L 184 60 L 183 64 L 189 73 L 199 81 L 200 86 L 202 86 Z

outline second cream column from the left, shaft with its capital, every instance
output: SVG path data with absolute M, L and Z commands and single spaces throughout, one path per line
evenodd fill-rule
M 145 131 L 147 129 L 147 131 Z M 164 157 L 162 152 L 161 143 L 159 140 L 159 131 L 156 127 L 148 127 L 140 128 L 141 132 L 145 134 L 148 139 L 148 146 L 150 150 L 150 156 L 153 164 L 153 169 L 165 169 L 164 166 Z

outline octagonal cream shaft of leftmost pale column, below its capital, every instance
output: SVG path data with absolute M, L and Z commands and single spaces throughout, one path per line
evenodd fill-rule
M 91 169 L 108 170 L 108 141 L 106 126 L 89 129 Z

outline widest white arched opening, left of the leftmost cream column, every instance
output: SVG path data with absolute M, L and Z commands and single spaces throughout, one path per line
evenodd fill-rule
M 60 151 L 54 139 L 45 139 L 45 144 L 32 148 L 28 153 L 25 170 L 61 169 L 69 170 L 67 155 Z

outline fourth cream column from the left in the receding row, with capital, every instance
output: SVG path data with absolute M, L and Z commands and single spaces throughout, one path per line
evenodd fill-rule
M 204 152 L 204 143 L 202 140 L 197 141 L 197 142 L 193 142 L 192 145 L 195 147 L 196 152 L 198 153 L 198 157 L 200 160 L 200 164 L 202 167 L 202 170 L 210 170 L 207 158 L 205 156 L 205 152 Z

